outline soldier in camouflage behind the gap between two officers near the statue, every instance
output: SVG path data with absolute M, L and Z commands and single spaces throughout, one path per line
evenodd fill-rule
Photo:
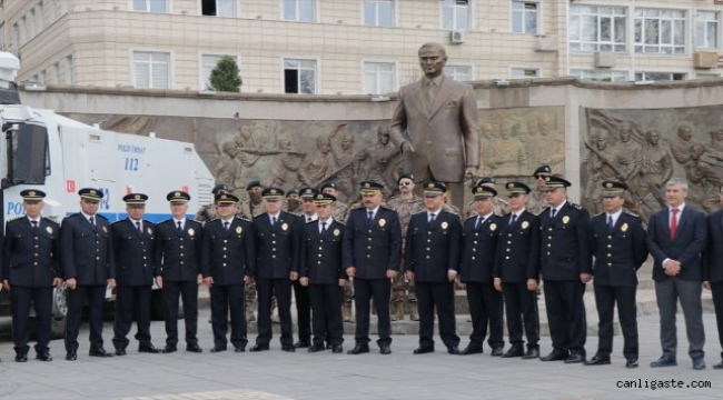
M 404 249 L 409 219 L 413 214 L 424 211 L 425 208 L 422 198 L 414 193 L 414 176 L 412 173 L 403 172 L 399 176 L 398 183 L 399 197 L 389 199 L 388 206 L 397 211 L 397 214 L 399 216 L 399 224 L 402 226 L 400 270 L 404 271 Z M 413 321 L 418 321 L 419 313 L 417 311 L 417 296 L 414 292 L 414 282 L 405 282 L 404 274 L 399 273 L 392 286 L 393 321 L 400 321 L 404 319 L 405 300 L 409 308 L 409 318 Z

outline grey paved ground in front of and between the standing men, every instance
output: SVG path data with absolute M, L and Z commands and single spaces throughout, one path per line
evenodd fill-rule
M 590 294 L 588 294 L 590 296 Z M 81 342 L 79 360 L 65 361 L 61 341 L 53 341 L 53 362 L 31 359 L 17 363 L 12 343 L 0 339 L 0 397 L 13 400 L 39 399 L 648 399 L 648 398 L 723 398 L 723 370 L 713 370 L 720 360 L 715 319 L 706 311 L 709 367 L 691 369 L 685 353 L 684 330 L 679 329 L 681 346 L 677 367 L 652 369 L 647 364 L 660 356 L 656 316 L 640 318 L 641 368 L 624 368 L 622 338 L 615 337 L 612 366 L 566 366 L 562 362 L 499 359 L 484 354 L 449 356 L 438 342 L 437 352 L 414 356 L 417 346 L 413 334 L 394 337 L 392 356 L 347 356 L 285 353 L 278 342 L 263 353 L 224 352 L 211 354 L 209 311 L 199 319 L 201 354 L 180 351 L 172 354 L 147 354 L 129 347 L 126 357 L 97 359 L 87 356 L 88 343 Z M 544 316 L 543 316 L 544 319 Z M 464 324 L 466 318 L 460 318 Z M 682 316 L 679 316 L 682 321 Z M 182 323 L 182 322 L 181 322 Z M 460 327 L 463 328 L 463 327 Z M 182 328 L 181 328 L 182 331 Z M 153 322 L 156 346 L 164 344 L 162 322 Z M 87 338 L 87 330 L 81 332 Z M 105 326 L 107 349 L 111 327 Z M 251 342 L 255 336 L 250 336 Z M 132 340 L 132 339 L 131 339 Z M 346 336 L 345 350 L 353 343 Z M 462 347 L 466 346 L 463 338 Z M 587 341 L 592 356 L 596 338 Z M 551 350 L 549 338 L 543 337 L 542 351 Z M 642 389 L 618 389 L 622 380 L 634 380 Z M 683 388 L 656 388 L 665 382 L 681 381 Z M 712 388 L 686 388 L 693 381 L 710 381 Z

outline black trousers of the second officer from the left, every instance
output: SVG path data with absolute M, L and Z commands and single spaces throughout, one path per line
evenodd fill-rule
M 68 321 L 66 327 L 66 351 L 78 351 L 78 332 L 82 318 L 82 306 L 88 302 L 88 324 L 90 326 L 90 350 L 103 348 L 103 303 L 106 284 L 78 284 L 68 291 Z

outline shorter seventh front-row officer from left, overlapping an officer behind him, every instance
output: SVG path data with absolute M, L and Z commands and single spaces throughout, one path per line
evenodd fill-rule
M 319 218 L 304 227 L 298 268 L 300 283 L 309 288 L 314 310 L 314 344 L 308 351 L 324 351 L 328 333 L 331 351 L 340 353 L 344 351 L 341 288 L 348 282 L 341 259 L 344 224 L 331 218 L 334 196 L 319 193 L 314 199 Z

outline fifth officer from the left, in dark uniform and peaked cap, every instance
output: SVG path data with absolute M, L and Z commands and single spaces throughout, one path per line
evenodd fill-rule
M 226 351 L 228 311 L 231 314 L 231 344 L 236 352 L 246 351 L 244 284 L 256 271 L 256 246 L 251 222 L 236 217 L 238 198 L 231 193 L 215 197 L 218 219 L 204 227 L 201 270 L 204 283 L 211 288 L 211 352 Z

